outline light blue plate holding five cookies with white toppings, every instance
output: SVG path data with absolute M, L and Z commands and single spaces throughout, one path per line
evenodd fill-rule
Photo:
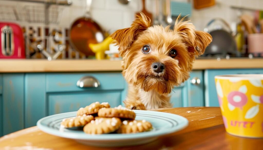
M 152 142 L 188 126 L 182 116 L 146 110 L 129 110 L 108 102 L 94 102 L 77 112 L 60 113 L 40 119 L 40 130 L 99 147 L 120 147 Z

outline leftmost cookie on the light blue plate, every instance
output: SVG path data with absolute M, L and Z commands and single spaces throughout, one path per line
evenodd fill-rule
M 72 128 L 72 127 L 80 127 L 87 125 L 90 121 L 94 120 L 92 115 L 82 115 L 78 117 L 66 118 L 63 119 L 60 123 L 60 127 L 62 128 Z

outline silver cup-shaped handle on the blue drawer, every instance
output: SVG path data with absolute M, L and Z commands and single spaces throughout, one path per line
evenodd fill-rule
M 98 87 L 100 82 L 93 76 L 84 76 L 77 81 L 78 87 Z

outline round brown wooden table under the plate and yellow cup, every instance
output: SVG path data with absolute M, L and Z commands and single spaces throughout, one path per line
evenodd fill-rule
M 184 116 L 189 120 L 189 126 L 145 145 L 122 148 L 85 146 L 31 127 L 1 137 L 0 149 L 263 149 L 263 138 L 242 138 L 227 134 L 219 107 L 165 108 L 156 111 Z

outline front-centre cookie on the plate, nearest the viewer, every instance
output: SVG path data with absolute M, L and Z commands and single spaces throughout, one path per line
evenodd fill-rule
M 111 133 L 120 128 L 122 121 L 119 118 L 98 118 L 84 126 L 83 131 L 88 134 Z

